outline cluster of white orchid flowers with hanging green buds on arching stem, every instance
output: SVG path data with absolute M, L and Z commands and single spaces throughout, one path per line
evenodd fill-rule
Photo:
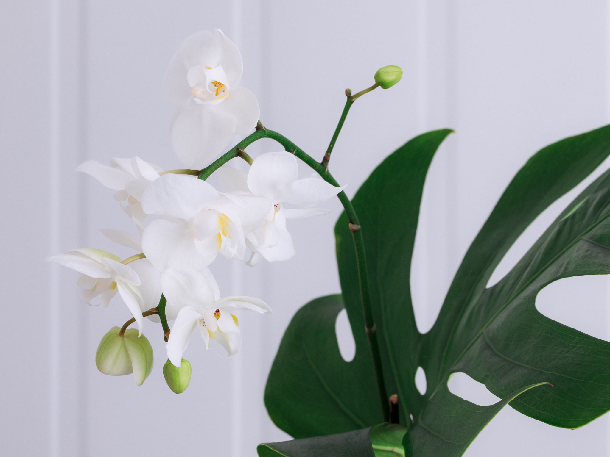
M 354 240 L 361 242 L 343 186 L 328 173 L 340 126 L 318 163 L 284 136 L 262 126 L 256 97 L 237 87 L 241 76 L 241 55 L 220 30 L 191 35 L 176 51 L 163 82 L 165 97 L 176 104 L 171 123 L 173 149 L 190 168 L 163 171 L 133 157 L 113 158 L 110 166 L 89 160 L 76 169 L 116 191 L 114 198 L 122 202 L 140 235 L 116 228 L 101 230 L 110 241 L 135 250 L 124 260 L 99 249 L 74 249 L 48 258 L 82 274 L 77 286 L 85 303 L 91 305 L 99 296 L 102 306 L 107 306 L 118 292 L 131 313 L 122 327 L 110 329 L 98 347 L 96 365 L 104 374 L 133 372 L 138 385 L 151 374 L 152 347 L 142 334 L 144 317 L 162 326 L 168 356 L 163 376 L 173 392 L 184 392 L 190 382 L 191 365 L 183 356 L 195 328 L 206 349 L 212 340 L 227 356 L 237 354 L 239 313 L 267 314 L 271 308 L 254 297 L 221 297 L 209 266 L 219 254 L 249 266 L 292 258 L 295 249 L 286 221 L 327 214 L 328 210 L 314 207 L 318 203 L 339 195 Z M 349 104 L 358 96 L 350 94 Z M 232 135 L 245 135 L 255 128 L 207 165 Z M 285 151 L 249 157 L 245 148 L 261 138 L 277 141 Z M 223 166 L 234 158 L 245 160 L 249 171 Z M 299 179 L 297 159 L 314 174 Z M 222 191 L 206 181 L 214 172 Z M 137 334 L 127 328 L 134 322 Z

